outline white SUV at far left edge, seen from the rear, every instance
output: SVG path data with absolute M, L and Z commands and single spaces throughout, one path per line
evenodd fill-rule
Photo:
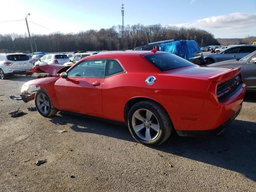
M 26 54 L 0 54 L 0 79 L 5 79 L 8 75 L 23 75 L 33 67 L 33 62 Z

